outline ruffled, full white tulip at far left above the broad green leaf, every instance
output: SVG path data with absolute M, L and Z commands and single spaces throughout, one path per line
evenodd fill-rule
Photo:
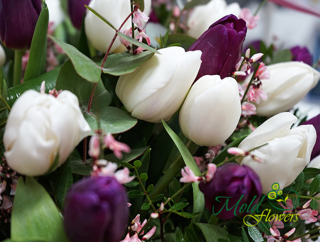
M 9 167 L 22 175 L 44 175 L 61 166 L 89 134 L 76 95 L 62 91 L 55 98 L 29 90 L 9 113 L 3 135 L 4 156 Z M 54 165 L 58 154 L 58 164 Z

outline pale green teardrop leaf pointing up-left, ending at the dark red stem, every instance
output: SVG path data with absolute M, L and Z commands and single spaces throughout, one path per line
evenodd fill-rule
M 85 80 L 97 83 L 101 77 L 101 67 L 93 60 L 83 55 L 76 47 L 69 45 L 53 36 L 49 36 L 72 61 L 77 73 Z

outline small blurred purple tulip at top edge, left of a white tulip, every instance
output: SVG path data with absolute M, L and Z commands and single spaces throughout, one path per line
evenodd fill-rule
M 77 29 L 81 29 L 83 15 L 85 13 L 85 6 L 89 4 L 90 0 L 69 0 L 68 12 L 71 22 Z

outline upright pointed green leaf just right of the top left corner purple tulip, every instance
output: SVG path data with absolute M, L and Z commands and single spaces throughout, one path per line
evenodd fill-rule
M 24 81 L 28 81 L 45 72 L 47 58 L 47 32 L 49 10 L 46 4 L 41 9 L 30 47 L 30 55 L 24 72 Z

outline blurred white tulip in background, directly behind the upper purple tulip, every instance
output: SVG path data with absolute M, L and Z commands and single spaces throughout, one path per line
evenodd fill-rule
M 188 18 L 188 34 L 198 39 L 214 22 L 229 14 L 239 17 L 240 11 L 238 2 L 228 5 L 225 0 L 211 0 L 207 4 L 198 5 Z

